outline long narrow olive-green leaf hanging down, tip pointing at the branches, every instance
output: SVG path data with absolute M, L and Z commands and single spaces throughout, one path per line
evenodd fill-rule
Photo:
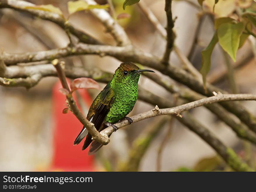
M 200 73 L 202 74 L 202 77 L 203 77 L 204 87 L 206 83 L 206 75 L 208 74 L 211 68 L 211 53 L 217 42 L 218 42 L 218 35 L 215 32 L 209 45 L 201 52 L 202 66 L 200 69 Z

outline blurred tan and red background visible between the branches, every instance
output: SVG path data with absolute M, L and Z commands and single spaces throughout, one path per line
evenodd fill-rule
M 142 1 L 142 0 L 141 0 Z M 29 1 L 36 5 L 53 4 L 59 7 L 67 17 L 66 0 Z M 220 0 L 216 4 L 215 17 L 234 16 L 239 9 L 250 9 L 256 12 L 253 0 Z M 98 0 L 99 4 L 108 1 Z M 122 9 L 123 0 L 112 0 L 116 17 L 120 13 L 128 13 L 130 18 L 118 20 L 124 27 L 134 45 L 145 52 L 161 56 L 165 50 L 165 40 L 157 33 L 145 17 L 141 8 L 135 4 Z M 166 26 L 164 0 L 144 0 L 144 4 L 152 10 L 163 26 Z M 173 18 L 175 20 L 175 44 L 188 56 L 193 65 L 200 69 L 201 51 L 210 42 L 214 34 L 211 10 L 214 0 L 205 0 L 203 11 L 197 1 L 173 1 Z M 205 14 L 202 16 L 202 14 Z M 101 42 L 115 45 L 104 26 L 89 12 L 81 11 L 73 14 L 70 23 L 85 31 Z M 37 19 L 25 13 L 10 9 L 0 10 L 0 49 L 8 53 L 26 53 L 65 47 L 69 42 L 63 29 L 56 24 Z M 234 79 L 239 93 L 256 93 L 256 43 L 249 38 L 237 53 L 234 66 Z M 211 57 L 211 70 L 207 80 L 216 86 L 232 91 L 227 79 L 225 55 L 220 46 L 216 46 Z M 172 53 L 171 63 L 181 66 L 179 58 Z M 120 65 L 111 57 L 72 56 L 65 59 L 67 65 L 92 69 L 100 69 L 113 73 Z M 173 100 L 173 95 L 153 81 L 141 77 L 139 85 L 159 96 Z M 103 88 L 105 85 L 100 83 Z M 154 132 L 152 141 L 140 157 L 136 169 L 138 171 L 214 171 L 230 170 L 216 155 L 216 152 L 201 138 L 189 131 L 175 119 L 155 117 L 146 119 L 122 129 L 111 136 L 111 142 L 103 146 L 94 156 L 82 151 L 82 144 L 73 146 L 74 139 L 81 131 L 81 123 L 72 113 L 63 114 L 65 96 L 58 88 L 60 83 L 56 77 L 43 78 L 38 85 L 25 88 L 0 87 L 0 170 L 1 171 L 33 171 L 33 170 L 80 170 L 80 171 L 118 171 L 128 170 L 129 154 L 149 129 L 160 126 Z M 88 108 L 99 93 L 99 90 L 80 90 L 75 95 L 79 106 L 86 115 Z M 246 108 L 256 115 L 256 103 L 242 102 Z M 133 111 L 128 115 L 136 115 L 152 109 L 154 106 L 138 100 Z M 213 131 L 227 146 L 232 147 L 239 156 L 250 165 L 256 165 L 256 148 L 241 141 L 235 133 L 207 109 L 199 107 L 190 111 L 203 125 Z M 150 128 L 151 127 L 151 128 Z M 83 142 L 81 142 L 83 143 Z

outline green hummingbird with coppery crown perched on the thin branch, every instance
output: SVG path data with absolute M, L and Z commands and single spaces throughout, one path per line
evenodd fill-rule
M 87 119 L 92 122 L 97 131 L 102 131 L 112 126 L 115 131 L 117 127 L 113 124 L 127 119 L 129 124 L 132 119 L 127 117 L 133 109 L 138 98 L 138 81 L 141 72 L 154 72 L 152 70 L 140 70 L 133 63 L 121 63 L 115 70 L 113 78 L 104 89 L 97 95 L 87 114 Z M 90 144 L 88 155 L 97 152 L 103 145 L 95 140 L 88 133 L 86 127 L 83 127 L 74 141 L 78 145 L 86 137 L 82 150 L 85 150 Z

